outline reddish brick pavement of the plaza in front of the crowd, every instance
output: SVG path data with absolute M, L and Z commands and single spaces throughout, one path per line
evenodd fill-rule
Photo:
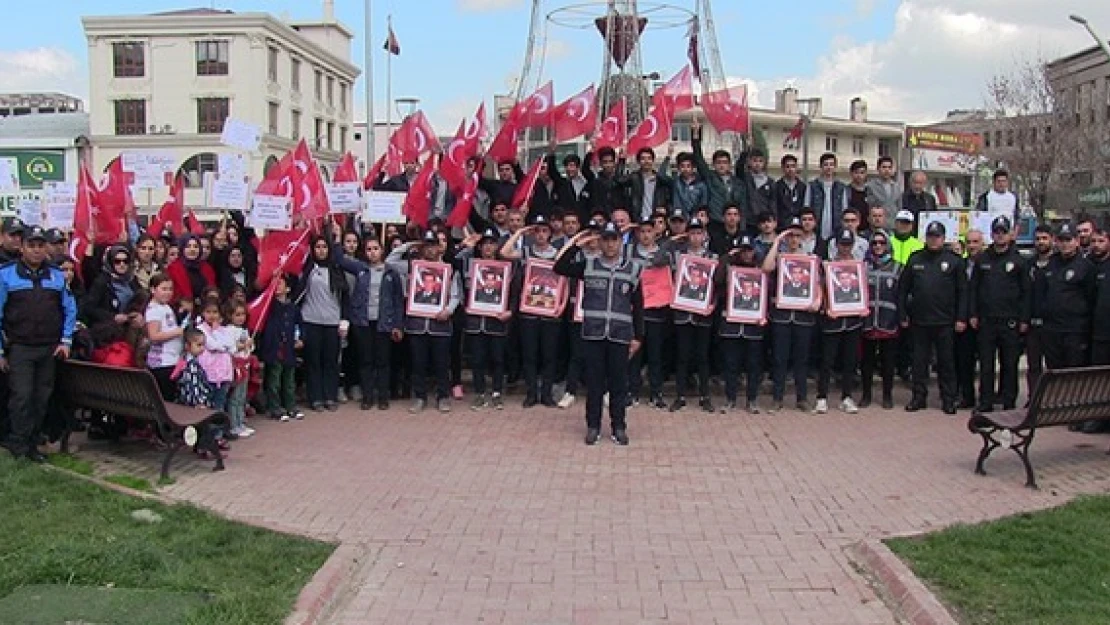
M 856 541 L 1058 505 L 1110 480 L 1107 438 L 1060 429 L 1033 444 L 1041 491 L 1012 453 L 975 476 L 967 413 L 638 407 L 630 446 L 587 447 L 581 403 L 507 409 L 264 422 L 229 471 L 164 492 L 363 546 L 333 625 L 856 625 L 897 622 L 849 563 Z

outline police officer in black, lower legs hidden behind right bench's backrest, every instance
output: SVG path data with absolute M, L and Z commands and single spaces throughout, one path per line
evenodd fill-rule
M 1045 366 L 1083 366 L 1087 364 L 1097 272 L 1091 261 L 1079 253 L 1074 225 L 1060 225 L 1056 232 L 1056 250 L 1045 268 L 1041 310 Z

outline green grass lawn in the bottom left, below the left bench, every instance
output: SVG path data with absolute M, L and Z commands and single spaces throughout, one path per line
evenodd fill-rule
M 161 523 L 141 523 L 148 508 Z M 334 545 L 163 506 L 0 454 L 0 598 L 62 584 L 203 594 L 190 624 L 281 623 Z M 2 621 L 2 618 L 0 618 Z

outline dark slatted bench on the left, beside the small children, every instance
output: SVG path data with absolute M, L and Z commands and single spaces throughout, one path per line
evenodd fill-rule
M 226 424 L 228 416 L 222 412 L 167 402 L 154 375 L 145 369 L 65 361 L 58 365 L 54 396 L 68 414 L 88 409 L 154 424 L 159 437 L 168 447 L 162 460 L 163 480 L 170 477 L 170 462 L 186 441 L 214 455 L 213 471 L 224 468 L 214 430 Z M 72 423 L 72 419 L 68 422 Z M 70 430 L 67 427 L 62 435 L 63 451 L 68 448 Z

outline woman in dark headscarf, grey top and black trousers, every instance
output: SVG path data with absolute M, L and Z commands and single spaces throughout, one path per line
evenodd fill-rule
M 339 409 L 340 322 L 346 300 L 346 275 L 332 258 L 327 238 L 313 236 L 295 301 L 301 308 L 305 390 L 314 411 Z

